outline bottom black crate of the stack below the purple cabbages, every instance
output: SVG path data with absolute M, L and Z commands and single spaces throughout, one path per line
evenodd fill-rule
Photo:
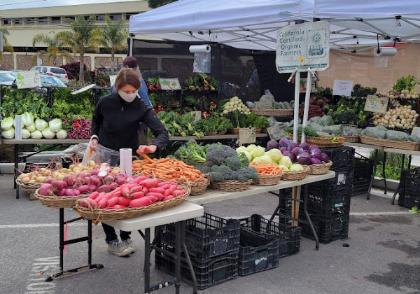
M 299 218 L 305 219 L 303 213 L 300 213 L 299 215 Z M 328 244 L 331 241 L 349 236 L 349 214 L 335 214 L 329 218 L 315 216 L 313 214 L 309 215 L 321 244 Z M 304 223 L 299 223 L 299 225 L 300 228 L 302 228 L 302 237 L 314 239 L 314 235 L 312 235 L 309 225 Z

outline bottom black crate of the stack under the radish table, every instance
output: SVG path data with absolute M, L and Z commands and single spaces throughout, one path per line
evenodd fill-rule
M 175 253 L 172 246 L 158 242 L 157 246 Z M 183 255 L 184 257 L 185 255 Z M 218 283 L 223 283 L 238 276 L 239 250 L 231 251 L 214 258 L 195 258 L 190 256 L 197 287 L 202 290 Z M 155 251 L 155 266 L 169 274 L 175 274 L 175 260 L 170 255 Z M 193 283 L 193 277 L 187 262 L 181 260 L 181 277 L 188 283 Z

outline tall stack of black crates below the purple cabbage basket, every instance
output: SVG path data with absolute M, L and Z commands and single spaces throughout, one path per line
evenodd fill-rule
M 349 234 L 350 199 L 353 189 L 354 149 L 347 146 L 321 148 L 332 161 L 330 170 L 335 172 L 335 178 L 308 184 L 307 210 L 314 224 L 316 234 L 321 244 L 342 239 Z M 291 189 L 283 193 L 283 203 L 280 214 L 290 215 L 292 200 Z M 304 197 L 304 189 L 301 191 Z M 299 207 L 299 218 L 306 219 L 303 205 Z M 283 220 L 283 222 L 286 220 Z M 309 225 L 300 222 L 302 237 L 313 238 Z

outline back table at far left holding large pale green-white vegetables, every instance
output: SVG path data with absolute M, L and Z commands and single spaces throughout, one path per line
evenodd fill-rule
M 22 139 L 22 140 L 17 140 L 17 139 L 3 139 L 1 140 L 1 144 L 9 144 L 9 145 L 14 145 L 14 151 L 15 151 L 15 179 L 18 179 L 19 176 L 19 172 L 18 172 L 18 163 L 19 163 L 19 145 L 24 145 L 24 144 L 54 144 L 54 146 L 57 145 L 61 145 L 61 144 L 79 144 L 79 143 L 88 143 L 89 140 L 85 140 L 85 139 Z M 42 150 L 42 151 L 46 151 L 48 150 Z M 32 155 L 37 154 L 37 153 L 41 153 L 42 151 L 37 151 L 34 152 Z M 30 156 L 30 155 L 29 155 Z M 16 182 L 13 181 L 13 188 L 16 189 L 16 199 L 19 198 L 19 186 L 16 185 Z

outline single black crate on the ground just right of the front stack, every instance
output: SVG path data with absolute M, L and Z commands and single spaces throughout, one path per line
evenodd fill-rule
M 267 238 L 248 230 L 241 230 L 239 246 L 239 276 L 255 274 L 279 266 L 279 239 Z

